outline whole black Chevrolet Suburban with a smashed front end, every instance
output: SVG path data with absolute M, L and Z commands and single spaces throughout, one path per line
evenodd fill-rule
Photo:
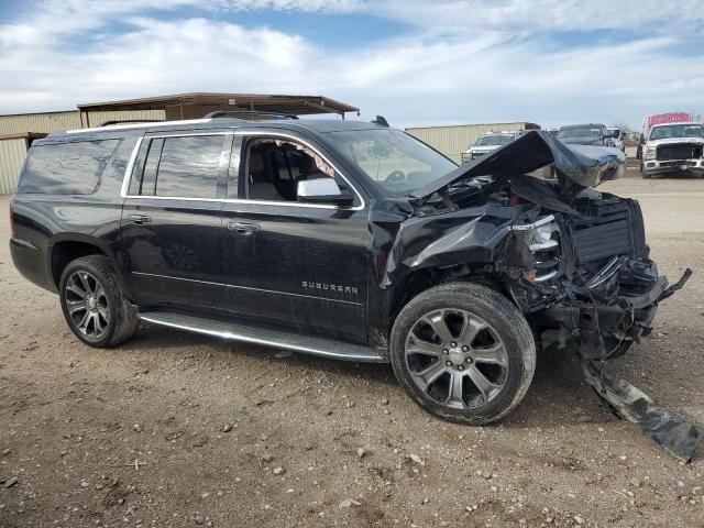
M 91 346 L 142 320 L 391 362 L 465 424 L 519 404 L 537 349 L 576 350 L 615 410 L 686 458 L 698 431 L 604 372 L 689 276 L 668 286 L 638 204 L 594 189 L 624 161 L 529 132 L 458 167 L 384 120 L 69 131 L 30 150 L 11 250 Z M 529 175 L 549 164 L 557 182 Z

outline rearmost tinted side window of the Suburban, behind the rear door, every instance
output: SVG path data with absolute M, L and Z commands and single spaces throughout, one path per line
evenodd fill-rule
M 89 195 L 120 140 L 35 145 L 20 178 L 18 193 Z

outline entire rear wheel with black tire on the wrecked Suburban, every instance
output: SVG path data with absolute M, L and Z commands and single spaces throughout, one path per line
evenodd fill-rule
M 81 297 L 76 293 L 73 283 L 73 280 L 80 280 L 81 276 L 88 277 L 88 287 L 84 287 L 84 290 L 87 292 L 94 287 L 101 293 L 100 299 L 94 300 L 97 308 L 87 308 L 84 311 L 88 314 L 100 310 L 101 314 L 108 316 L 100 319 L 99 323 L 87 323 L 86 331 L 79 328 L 80 321 L 78 320 L 82 320 L 84 317 L 81 308 L 78 308 L 78 312 L 73 316 L 69 311 L 75 308 L 76 304 L 81 302 Z M 72 282 L 70 285 L 69 282 Z M 59 282 L 59 300 L 68 327 L 78 339 L 90 346 L 98 349 L 116 346 L 130 339 L 140 323 L 136 309 L 124 296 L 114 271 L 110 266 L 110 261 L 102 255 L 82 256 L 68 263 Z M 87 306 L 87 301 L 84 300 L 82 304 Z M 97 318 L 98 315 L 95 314 L 95 317 Z M 102 324 L 100 332 L 97 330 L 97 324 Z M 92 334 L 90 333 L 91 326 L 96 330 Z

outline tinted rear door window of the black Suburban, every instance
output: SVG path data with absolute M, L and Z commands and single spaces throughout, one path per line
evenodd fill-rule
M 222 135 L 193 135 L 165 138 L 160 148 L 157 140 L 152 142 L 145 163 L 142 194 L 182 198 L 216 198 Z M 157 157 L 161 156 L 161 160 Z M 155 160 L 156 157 L 156 160 Z M 148 178 L 155 173 L 154 189 Z

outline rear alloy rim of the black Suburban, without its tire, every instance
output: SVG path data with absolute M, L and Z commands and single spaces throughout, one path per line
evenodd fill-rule
M 108 297 L 94 275 L 84 271 L 70 275 L 66 282 L 64 304 L 80 333 L 91 340 L 106 334 L 110 323 Z

